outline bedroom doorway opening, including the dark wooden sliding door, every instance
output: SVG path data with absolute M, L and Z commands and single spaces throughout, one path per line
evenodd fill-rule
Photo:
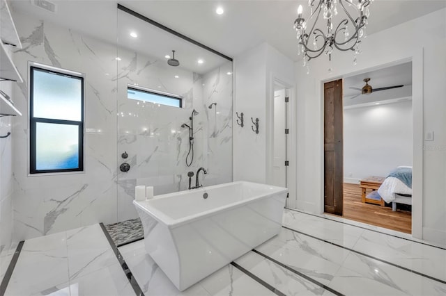
M 326 213 L 411 233 L 412 165 L 412 62 L 324 84 Z

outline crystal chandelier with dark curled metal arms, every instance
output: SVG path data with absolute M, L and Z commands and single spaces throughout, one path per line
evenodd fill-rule
M 331 60 L 331 53 L 334 48 L 340 51 L 353 51 L 353 64 L 356 65 L 356 56 L 360 54 L 359 44 L 366 37 L 365 27 L 370 14 L 369 5 L 372 1 L 309 0 L 310 13 L 308 19 L 302 17 L 302 6 L 299 6 L 298 18 L 294 21 L 294 28 L 298 32 L 298 54 L 304 55 L 303 65 L 307 66 L 307 72 L 309 72 L 309 60 L 317 58 L 323 53 L 328 55 Z M 338 14 L 338 8 L 345 14 L 345 17 L 339 24 L 333 24 L 333 18 Z M 357 13 L 357 15 L 354 15 L 355 18 L 351 13 Z M 318 22 L 321 15 L 323 19 Z M 326 24 L 327 27 L 325 29 L 316 28 L 316 24 Z M 309 28 L 309 31 L 307 28 Z

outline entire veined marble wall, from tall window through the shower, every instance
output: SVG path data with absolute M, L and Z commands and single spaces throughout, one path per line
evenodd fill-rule
M 29 176 L 27 117 L 17 117 L 12 126 L 15 196 L 4 203 L 14 208 L 15 240 L 133 219 L 135 185 L 154 186 L 155 195 L 185 190 L 187 172 L 199 167 L 208 170 L 200 180 L 205 186 L 232 181 L 232 76 L 226 74 L 232 63 L 197 74 L 33 15 L 14 13 L 14 19 L 23 44 L 12 54 L 24 79 L 13 86 L 17 108 L 24 113 L 29 108 L 29 61 L 85 74 L 83 174 Z M 182 95 L 183 108 L 128 100 L 127 85 L 135 83 Z M 213 102 L 217 109 L 209 110 Z M 189 122 L 193 108 L 199 115 L 194 163 L 187 167 L 188 133 L 180 126 Z M 118 168 L 123 151 L 129 154 L 128 173 Z

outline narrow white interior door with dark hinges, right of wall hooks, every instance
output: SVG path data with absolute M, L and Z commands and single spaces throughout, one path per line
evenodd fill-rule
M 272 164 L 275 186 L 286 187 L 286 103 L 285 90 L 274 92 L 274 158 Z

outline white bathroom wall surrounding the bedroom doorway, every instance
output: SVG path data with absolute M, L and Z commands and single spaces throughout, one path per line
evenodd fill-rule
M 373 22 L 373 15 L 370 17 Z M 416 36 L 416 38 L 414 37 Z M 399 60 L 413 60 L 413 106 L 423 110 L 424 120 L 414 117 L 414 179 L 422 176 L 422 187 L 413 188 L 413 233 L 426 240 L 446 243 L 446 9 L 369 35 L 361 44 L 362 54 L 353 66 L 353 54 L 334 51 L 329 74 L 328 60 L 310 62 L 310 74 L 295 64 L 298 91 L 298 208 L 323 211 L 323 104 L 322 82 Z M 424 51 L 424 54 L 423 54 Z M 443 96 L 443 97 L 442 97 Z M 433 142 L 422 142 L 422 131 L 435 131 Z M 424 148 L 424 150 L 423 150 Z M 420 166 L 420 155 L 423 167 Z M 415 172 L 415 167 L 417 171 Z M 414 184 L 415 185 L 415 184 Z M 422 213 L 418 213 L 422 211 Z M 420 218 L 422 217 L 422 221 Z

